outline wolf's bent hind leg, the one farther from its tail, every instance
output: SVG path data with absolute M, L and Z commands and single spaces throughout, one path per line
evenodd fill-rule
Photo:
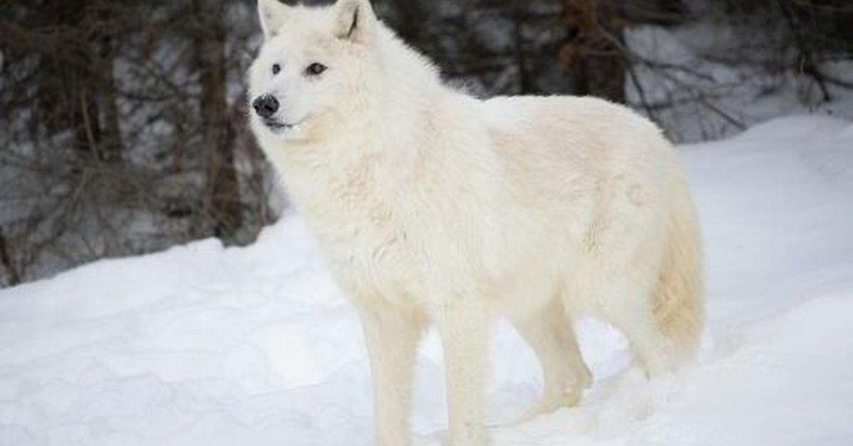
M 572 321 L 559 298 L 514 325 L 542 364 L 543 397 L 522 418 L 553 412 L 580 403 L 583 389 L 592 383 L 589 368 L 577 347 Z

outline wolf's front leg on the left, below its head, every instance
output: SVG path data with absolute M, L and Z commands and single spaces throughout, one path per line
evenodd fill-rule
M 415 355 L 425 323 L 381 303 L 359 312 L 373 376 L 375 444 L 408 446 Z

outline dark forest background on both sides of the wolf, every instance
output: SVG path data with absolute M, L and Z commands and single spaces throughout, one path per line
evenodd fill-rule
M 276 220 L 286 199 L 245 118 L 255 8 L 0 0 L 0 287 L 189 240 L 245 245 Z M 679 142 L 853 110 L 849 0 L 374 8 L 475 94 L 602 96 Z

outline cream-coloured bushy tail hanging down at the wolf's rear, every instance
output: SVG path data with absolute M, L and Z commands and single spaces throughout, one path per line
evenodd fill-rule
M 670 211 L 670 231 L 653 292 L 655 321 L 684 356 L 699 347 L 705 323 L 702 240 L 687 186 Z

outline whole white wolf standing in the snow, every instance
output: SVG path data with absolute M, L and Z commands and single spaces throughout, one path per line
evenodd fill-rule
M 444 345 L 450 441 L 487 443 L 487 335 L 506 317 L 542 362 L 535 410 L 590 383 L 572 319 L 630 340 L 649 375 L 696 348 L 699 231 L 676 153 L 625 107 L 481 101 L 451 89 L 368 0 L 259 0 L 252 129 L 363 322 L 376 443 L 410 443 L 415 350 Z

